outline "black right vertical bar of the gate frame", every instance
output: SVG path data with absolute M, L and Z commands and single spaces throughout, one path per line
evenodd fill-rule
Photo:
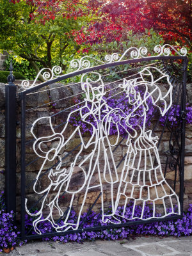
M 186 81 L 187 81 L 188 58 L 186 57 L 182 63 L 182 104 L 181 104 L 181 152 L 180 152 L 180 214 L 183 215 L 184 200 L 184 157 L 185 157 L 185 140 L 186 140 Z

